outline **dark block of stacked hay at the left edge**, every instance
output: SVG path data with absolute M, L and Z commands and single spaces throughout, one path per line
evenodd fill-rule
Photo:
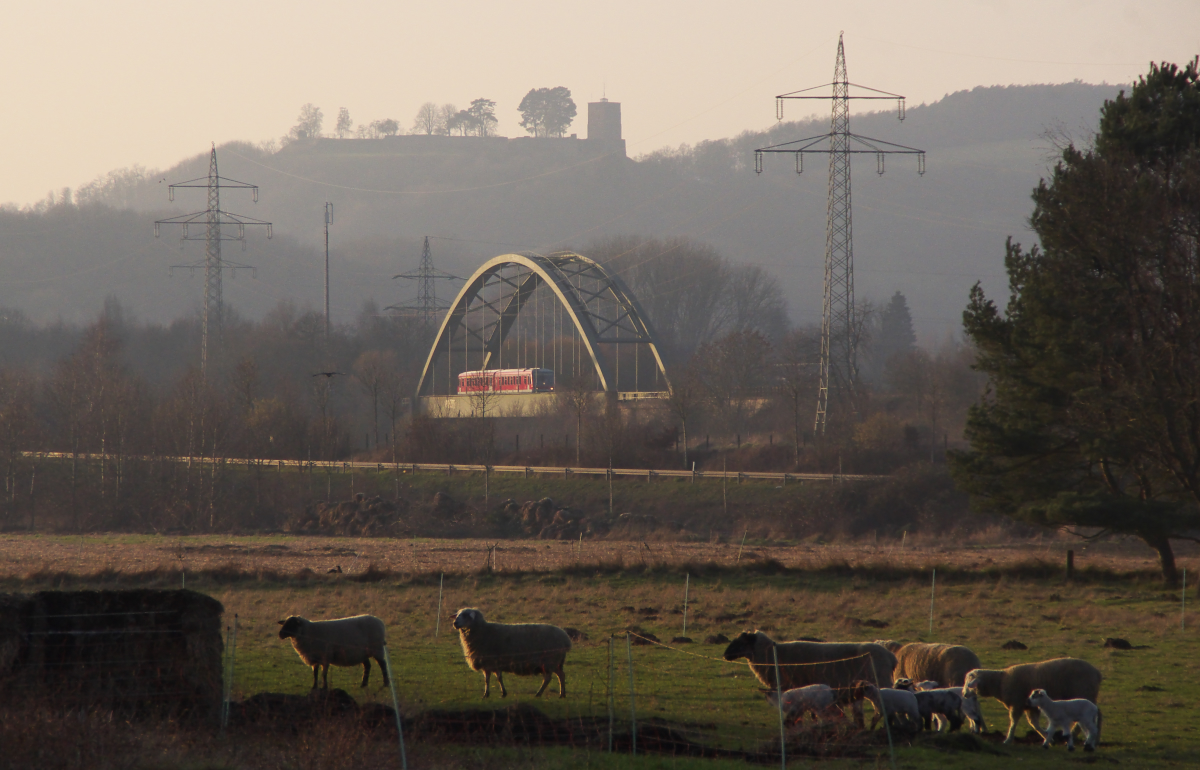
M 20 634 L 5 688 L 70 706 L 215 718 L 223 612 L 196 591 L 0 596 L 0 627 Z

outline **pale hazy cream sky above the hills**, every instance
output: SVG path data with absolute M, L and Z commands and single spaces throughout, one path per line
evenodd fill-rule
M 170 2 L 12 0 L 0 47 L 0 201 L 210 142 L 278 138 L 313 102 L 331 130 L 412 125 L 426 101 L 497 102 L 523 136 L 530 88 L 622 102 L 631 156 L 762 128 L 772 96 L 851 82 L 911 106 L 976 85 L 1127 83 L 1200 52 L 1200 0 L 804 2 Z M 797 108 L 790 118 L 800 118 Z

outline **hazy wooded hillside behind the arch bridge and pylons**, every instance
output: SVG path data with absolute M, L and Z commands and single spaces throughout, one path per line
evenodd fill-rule
M 857 291 L 883 300 L 899 289 L 926 339 L 955 331 L 967 289 L 983 279 L 1000 295 L 1003 243 L 1028 242 L 1030 191 L 1045 173 L 1054 136 L 1086 142 L 1116 86 L 1081 83 L 978 88 L 931 104 L 856 115 L 856 133 L 926 150 L 928 173 L 898 157 L 876 176 L 870 157 L 854 166 Z M 323 207 L 331 228 L 335 314 L 349 319 L 366 299 L 380 306 L 412 296 L 391 276 L 414 266 L 422 235 L 434 235 L 439 266 L 468 275 L 486 257 L 572 247 L 587 253 L 611 235 L 686 235 L 734 261 L 778 276 L 797 323 L 820 319 L 826 167 L 809 158 L 797 176 L 791 158 L 757 146 L 828 131 L 790 121 L 768 132 L 660 151 L 636 160 L 578 139 L 396 137 L 294 143 L 269 154 L 248 144 L 218 148 L 221 173 L 260 186 L 260 201 L 229 191 L 222 207 L 275 223 L 270 242 L 251 234 L 257 266 L 227 279 L 227 296 L 260 317 L 282 299 L 317 306 L 322 296 Z M 178 233 L 152 237 L 155 218 L 204 206 L 202 191 L 167 201 L 167 182 L 203 176 L 208 152 L 163 172 L 126 169 L 78 191 L 83 205 L 0 211 L 0 305 L 35 320 L 94 317 L 106 295 L 134 314 L 169 320 L 199 303 L 199 276 L 168 276 L 196 261 Z M 161 180 L 167 180 L 161 181 Z M 188 194 L 191 193 L 191 194 Z

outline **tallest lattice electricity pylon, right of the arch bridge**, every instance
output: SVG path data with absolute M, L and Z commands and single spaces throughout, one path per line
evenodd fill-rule
M 829 96 L 809 95 L 817 89 L 833 86 Z M 869 91 L 852 95 L 851 86 Z M 850 100 L 896 100 L 899 119 L 904 120 L 904 97 L 850 83 L 846 77 L 846 52 L 841 35 L 838 36 L 838 59 L 833 68 L 833 83 L 810 89 L 781 94 L 775 97 L 775 118 L 784 119 L 785 100 L 827 98 L 833 102 L 829 133 L 805 139 L 774 144 L 755 150 L 755 172 L 762 173 L 762 156 L 766 152 L 790 152 L 796 156 L 796 173 L 804 172 L 804 156 L 820 154 L 829 156 L 828 199 L 826 201 L 826 264 L 824 299 L 821 307 L 821 381 L 817 389 L 817 413 L 814 433 L 823 435 L 826 415 L 829 409 L 829 387 L 835 387 L 839 401 L 851 411 L 856 408 L 856 381 L 858 379 L 859 329 L 854 318 L 854 245 L 853 216 L 850 205 L 850 156 L 875 155 L 875 170 L 883 174 L 884 156 L 916 155 L 917 173 L 925 173 L 925 151 L 893 144 L 882 139 L 860 137 L 850 132 Z

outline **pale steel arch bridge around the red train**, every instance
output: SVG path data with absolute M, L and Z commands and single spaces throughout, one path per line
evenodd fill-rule
M 454 396 L 458 373 L 496 368 L 548 368 L 556 380 L 590 377 L 589 390 L 620 399 L 670 389 L 637 297 L 619 276 L 572 252 L 484 263 L 443 318 L 415 395 Z

